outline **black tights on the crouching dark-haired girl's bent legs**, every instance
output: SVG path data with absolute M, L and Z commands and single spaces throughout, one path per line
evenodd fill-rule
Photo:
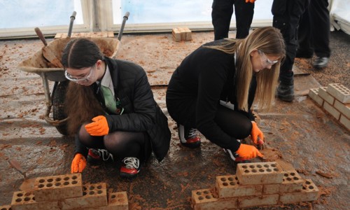
M 145 161 L 151 155 L 151 146 L 146 132 L 117 131 L 104 137 L 90 136 L 85 125 L 80 127 L 78 139 L 87 148 L 106 149 L 114 157 L 135 157 Z

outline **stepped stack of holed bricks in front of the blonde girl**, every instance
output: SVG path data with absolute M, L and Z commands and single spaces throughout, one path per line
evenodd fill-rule
M 284 172 L 276 162 L 241 163 L 236 175 L 216 176 L 215 188 L 192 191 L 195 210 L 241 209 L 314 201 L 318 188 L 295 170 Z

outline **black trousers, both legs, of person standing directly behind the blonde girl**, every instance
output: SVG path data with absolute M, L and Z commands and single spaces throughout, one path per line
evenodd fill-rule
M 254 3 L 245 0 L 214 0 L 211 8 L 211 20 L 214 26 L 214 40 L 228 38 L 233 6 L 236 15 L 236 38 L 245 38 L 249 34 L 254 15 Z

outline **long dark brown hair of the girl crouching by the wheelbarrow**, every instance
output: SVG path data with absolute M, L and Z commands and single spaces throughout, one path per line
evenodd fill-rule
M 63 50 L 64 68 L 85 69 L 93 66 L 104 55 L 96 43 L 87 38 L 73 38 Z M 78 85 L 70 82 L 64 101 L 68 116 L 68 133 L 76 134 L 83 123 L 91 122 L 95 116 L 104 115 L 104 110 L 97 100 L 92 86 Z

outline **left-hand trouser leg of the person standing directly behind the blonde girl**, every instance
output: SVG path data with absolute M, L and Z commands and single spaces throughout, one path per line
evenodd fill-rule
M 228 38 L 233 3 L 235 0 L 214 0 L 211 6 L 211 22 L 214 26 L 214 40 Z

